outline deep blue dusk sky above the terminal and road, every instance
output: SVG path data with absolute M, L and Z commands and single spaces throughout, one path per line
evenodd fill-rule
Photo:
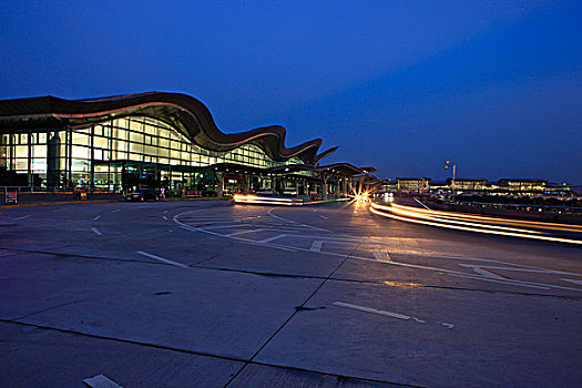
M 582 1 L 0 0 L 0 99 L 193 95 L 378 176 L 582 184 Z

